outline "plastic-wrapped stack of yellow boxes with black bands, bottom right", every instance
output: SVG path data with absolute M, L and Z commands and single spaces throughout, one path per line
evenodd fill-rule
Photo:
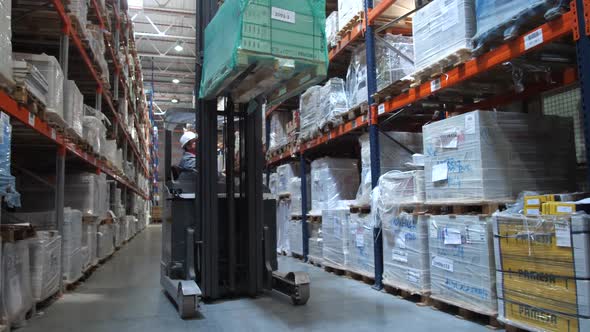
M 499 319 L 529 331 L 590 330 L 590 217 L 494 214 Z

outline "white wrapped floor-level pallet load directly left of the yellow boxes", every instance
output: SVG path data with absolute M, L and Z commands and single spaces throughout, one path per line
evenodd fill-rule
M 431 215 L 431 297 L 486 315 L 497 313 L 492 218 Z

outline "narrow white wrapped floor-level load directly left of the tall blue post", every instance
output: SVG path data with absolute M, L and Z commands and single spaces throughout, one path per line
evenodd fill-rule
M 370 213 L 352 213 L 348 230 L 347 270 L 373 278 L 375 276 L 373 216 Z

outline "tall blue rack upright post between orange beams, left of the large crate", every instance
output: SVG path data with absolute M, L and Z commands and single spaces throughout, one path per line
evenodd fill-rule
M 379 158 L 379 127 L 377 127 L 376 109 L 372 107 L 373 95 L 377 92 L 377 69 L 375 66 L 375 32 L 369 24 L 369 10 L 373 8 L 373 0 L 365 0 L 365 46 L 367 54 L 367 92 L 369 103 L 369 143 L 371 152 L 371 184 L 375 188 L 381 176 L 381 160 Z M 383 237 L 381 225 L 373 228 L 375 254 L 375 285 L 374 289 L 383 288 Z

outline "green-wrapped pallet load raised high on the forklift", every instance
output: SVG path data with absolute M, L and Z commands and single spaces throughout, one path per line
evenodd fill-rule
M 325 0 L 225 1 L 205 29 L 200 97 L 220 95 L 253 65 L 256 77 L 235 89 L 242 101 L 276 102 L 325 79 L 325 16 Z

